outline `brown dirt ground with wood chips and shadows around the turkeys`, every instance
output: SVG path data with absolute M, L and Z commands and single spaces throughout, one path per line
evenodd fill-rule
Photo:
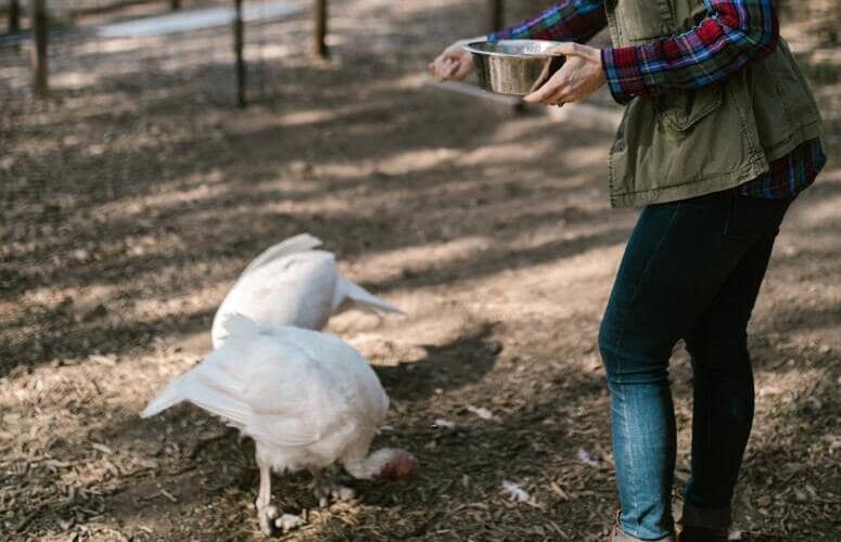
M 375 446 L 411 450 L 421 470 L 354 482 L 359 498 L 328 509 L 306 476 L 276 478 L 278 504 L 307 517 L 284 540 L 603 537 L 617 504 L 595 341 L 636 212 L 609 208 L 609 132 L 423 83 L 441 47 L 484 29 L 484 4 L 335 2 L 329 62 L 308 56 L 306 15 L 255 26 L 244 112 L 225 31 L 68 38 L 40 103 L 27 51 L 0 51 L 0 539 L 262 539 L 253 444 L 189 405 L 138 412 L 207 353 L 247 261 L 303 231 L 408 313 L 330 331 L 392 398 Z M 832 28 L 783 35 L 838 156 Z M 751 326 L 737 539 L 841 540 L 840 250 L 833 160 L 787 218 Z M 672 366 L 677 507 L 681 349 Z

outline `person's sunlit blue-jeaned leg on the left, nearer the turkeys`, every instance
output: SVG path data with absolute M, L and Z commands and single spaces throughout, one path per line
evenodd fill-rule
M 628 241 L 599 333 L 611 391 L 622 531 L 672 534 L 674 344 L 750 247 L 727 235 L 734 192 L 647 207 Z

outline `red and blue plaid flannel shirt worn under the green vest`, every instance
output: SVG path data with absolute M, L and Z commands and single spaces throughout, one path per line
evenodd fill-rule
M 779 23 L 772 0 L 704 0 L 708 16 L 688 31 L 649 43 L 601 52 L 608 87 L 621 104 L 635 96 L 690 90 L 721 81 L 772 53 Z M 603 0 L 563 0 L 487 39 L 551 39 L 586 42 L 608 25 Z M 826 164 L 820 140 L 802 143 L 742 184 L 744 195 L 793 197 Z

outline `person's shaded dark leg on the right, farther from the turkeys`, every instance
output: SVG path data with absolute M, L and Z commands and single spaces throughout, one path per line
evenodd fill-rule
M 729 234 L 760 236 L 684 337 L 692 358 L 695 399 L 692 474 L 683 524 L 719 531 L 730 525 L 730 500 L 753 421 L 748 322 L 788 208 L 788 202 L 743 198 L 736 204 L 739 221 Z

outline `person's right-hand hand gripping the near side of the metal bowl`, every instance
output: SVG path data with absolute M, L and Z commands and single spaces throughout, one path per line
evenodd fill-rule
M 563 54 L 566 61 L 539 89 L 523 98 L 526 102 L 543 105 L 583 102 L 604 85 L 600 50 L 581 43 L 561 43 L 549 52 Z

